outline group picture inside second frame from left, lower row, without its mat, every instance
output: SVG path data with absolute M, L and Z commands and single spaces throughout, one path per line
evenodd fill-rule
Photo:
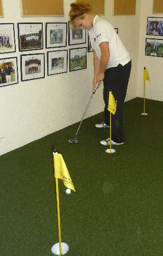
M 29 59 L 25 60 L 25 75 L 41 73 L 41 60 Z

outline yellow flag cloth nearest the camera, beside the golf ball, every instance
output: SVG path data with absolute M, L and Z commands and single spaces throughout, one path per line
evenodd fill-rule
M 53 153 L 55 178 L 62 179 L 66 187 L 75 191 L 67 166 L 61 154 Z

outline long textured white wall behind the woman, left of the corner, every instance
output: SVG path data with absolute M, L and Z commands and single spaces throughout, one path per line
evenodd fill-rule
M 148 3 L 148 1 L 144 0 L 143 2 Z M 0 88 L 0 138 L 4 137 L 0 139 L 0 155 L 78 122 L 84 114 L 92 94 L 92 53 L 88 53 L 87 55 L 87 69 L 47 76 L 46 53 L 49 49 L 45 49 L 45 23 L 68 21 L 69 6 L 73 1 L 65 0 L 64 2 L 64 17 L 21 17 L 19 0 L 3 0 L 5 17 L 1 18 L 0 22 L 14 23 L 16 52 L 1 54 L 0 58 L 17 56 L 19 83 Z M 152 0 L 150 0 L 150 2 L 152 6 Z M 108 19 L 115 28 L 119 29 L 119 36 L 132 57 L 132 71 L 126 100 L 137 97 L 137 95 L 142 95 L 141 89 L 139 88 L 139 83 L 142 83 L 140 80 L 142 74 L 138 66 L 142 63 L 142 67 L 144 67 L 150 59 L 150 57 L 144 57 L 146 61 L 139 61 L 139 58 L 142 58 L 142 54 L 139 55 L 141 3 L 141 0 L 137 0 L 136 15 L 113 16 L 113 0 L 105 1 L 104 17 Z M 144 3 L 143 6 L 145 7 Z M 151 15 L 151 13 L 148 13 L 148 15 Z M 141 24 L 141 37 L 145 34 L 146 29 L 146 17 L 144 19 L 145 24 Z M 19 52 L 17 23 L 32 22 L 43 22 L 44 49 Z M 142 43 L 141 52 L 144 54 L 145 42 L 142 40 Z M 67 46 L 63 48 L 63 50 L 77 47 L 87 47 L 87 44 L 71 47 Z M 57 50 L 57 48 L 50 49 L 50 51 L 54 50 Z M 62 50 L 62 48 L 59 50 Z M 21 82 L 20 54 L 31 53 L 45 53 L 45 78 Z M 158 61 L 158 58 L 156 58 L 155 61 Z M 149 71 L 152 72 L 151 67 L 152 65 L 150 65 Z M 139 84 L 138 92 L 137 84 Z M 103 111 L 103 106 L 101 86 L 91 102 L 86 118 Z

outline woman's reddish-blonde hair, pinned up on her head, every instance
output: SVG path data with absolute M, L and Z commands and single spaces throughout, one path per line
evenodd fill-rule
M 76 28 L 74 23 L 75 19 L 84 19 L 83 14 L 89 13 L 91 11 L 91 7 L 89 4 L 86 4 L 84 2 L 80 3 L 71 3 L 70 4 L 71 10 L 69 12 L 70 16 L 70 24 L 73 28 Z

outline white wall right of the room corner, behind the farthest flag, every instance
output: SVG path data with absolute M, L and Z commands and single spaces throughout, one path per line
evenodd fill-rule
M 163 17 L 163 14 L 152 14 L 153 0 L 142 1 L 141 26 L 140 26 L 140 47 L 139 47 L 139 69 L 138 69 L 138 85 L 137 96 L 143 96 L 143 72 L 144 67 L 148 70 L 150 82 L 146 81 L 147 99 L 163 101 L 163 73 L 162 73 L 162 58 L 145 55 L 146 38 L 163 39 L 162 36 L 146 35 L 147 33 L 147 18 L 148 17 Z

